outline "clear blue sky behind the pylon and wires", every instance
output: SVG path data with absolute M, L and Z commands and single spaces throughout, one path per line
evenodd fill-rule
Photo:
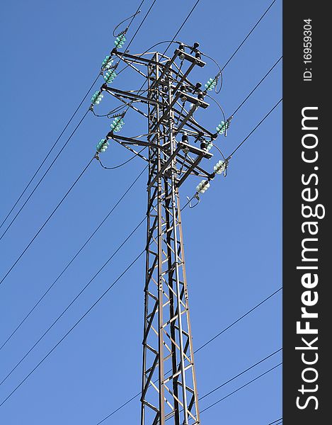
M 139 1 L 133 0 L 101 5 L 77 0 L 4 4 L 0 18 L 4 59 L 0 82 L 1 221 L 98 74 L 103 57 L 113 46 L 113 28 L 133 13 L 138 4 Z M 150 4 L 151 1 L 145 0 L 128 38 Z M 167 3 L 157 0 L 130 46 L 131 52 L 139 53 L 154 42 L 171 40 L 193 4 L 191 0 Z M 200 42 L 202 51 L 223 65 L 269 4 L 265 0 L 201 0 L 177 40 L 188 44 Z M 227 116 L 272 67 L 281 49 L 281 1 L 276 1 L 224 69 L 224 86 L 216 98 Z M 217 140 L 225 154 L 232 152 L 279 101 L 281 69 L 278 64 L 236 113 L 227 138 Z M 205 82 L 215 74 L 216 67 L 207 62 L 193 78 Z M 96 89 L 102 83 L 101 79 L 98 81 Z M 113 85 L 138 89 L 141 81 L 137 74 L 127 70 Z M 90 97 L 59 141 L 55 154 L 88 108 Z M 98 111 L 105 113 L 115 106 L 105 96 Z M 207 128 L 214 128 L 221 119 L 213 103 L 197 118 Z M 144 120 L 130 113 L 121 134 L 137 135 L 145 132 L 146 126 Z M 1 277 L 86 166 L 96 142 L 105 136 L 108 128 L 107 119 L 88 114 L 0 241 Z M 217 176 L 200 205 L 183 212 L 194 348 L 281 286 L 281 155 L 281 107 L 278 106 L 231 159 L 227 178 Z M 108 166 L 128 158 L 125 149 L 118 146 L 110 147 L 102 157 Z M 212 168 L 213 164 L 210 165 Z M 0 286 L 1 343 L 143 167 L 140 159 L 115 171 L 105 171 L 96 162 L 91 164 Z M 45 164 L 43 170 L 46 168 Z M 146 180 L 145 175 L 139 179 L 134 190 L 0 351 L 1 380 L 142 220 L 146 210 Z M 197 184 L 195 179 L 188 179 L 183 185 L 183 205 Z M 142 251 L 144 239 L 142 226 L 0 386 L 0 403 Z M 139 392 L 143 284 L 144 259 L 141 259 L 0 407 L 1 424 L 96 425 Z M 281 293 L 278 293 L 197 353 L 200 396 L 280 348 L 281 323 Z M 203 399 L 200 409 L 280 361 L 278 353 Z M 277 368 L 203 412 L 201 419 L 206 425 L 268 425 L 280 416 L 281 368 Z M 104 423 L 138 422 L 139 399 L 135 399 Z

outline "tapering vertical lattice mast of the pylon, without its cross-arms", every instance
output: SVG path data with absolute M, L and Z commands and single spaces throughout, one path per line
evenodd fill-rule
M 171 79 L 150 89 L 159 77 L 158 62 L 156 54 L 148 72 L 148 97 L 154 101 L 149 104 L 149 137 L 154 145 L 149 147 L 141 425 L 164 425 L 167 419 L 195 425 L 200 419 L 173 157 L 173 94 Z

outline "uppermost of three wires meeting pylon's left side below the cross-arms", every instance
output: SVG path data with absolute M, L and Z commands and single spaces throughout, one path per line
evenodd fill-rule
M 64 274 L 64 272 L 67 270 L 67 268 L 69 268 L 69 266 L 71 265 L 71 263 L 76 259 L 77 256 L 79 256 L 79 254 L 81 253 L 81 251 L 85 248 L 85 246 L 88 244 L 88 242 L 90 242 L 90 240 L 93 238 L 93 236 L 96 234 L 96 232 L 98 232 L 98 229 L 101 228 L 101 226 L 103 225 L 103 223 L 108 219 L 108 217 L 110 217 L 110 215 L 112 214 L 112 212 L 115 210 L 115 208 L 118 207 L 118 205 L 120 204 L 120 202 L 122 201 L 123 198 L 125 198 L 125 196 L 127 195 L 127 193 L 129 193 L 130 189 L 134 186 L 134 184 L 138 181 L 139 177 L 142 176 L 142 174 L 144 173 L 144 171 L 147 169 L 147 166 L 139 173 L 139 175 L 136 177 L 136 179 L 134 179 L 134 181 L 130 184 L 130 186 L 127 188 L 127 190 L 125 191 L 125 193 L 122 194 L 122 196 L 119 198 L 119 200 L 115 203 L 115 205 L 113 205 L 113 207 L 110 209 L 110 211 L 108 212 L 108 214 L 105 216 L 105 218 L 101 221 L 101 223 L 96 227 L 96 229 L 91 233 L 91 235 L 88 237 L 88 239 L 86 239 L 86 242 L 84 242 L 84 244 L 81 246 L 81 248 L 79 249 L 79 251 L 76 252 L 76 254 L 71 258 L 71 260 L 69 261 L 69 263 L 67 263 L 67 266 L 62 270 L 62 272 L 59 274 L 59 276 L 57 276 L 57 278 L 55 279 L 55 281 L 52 283 L 52 285 L 50 285 L 49 288 L 47 288 L 47 290 L 45 291 L 45 293 L 43 293 L 43 295 L 40 297 L 40 299 L 38 300 L 38 302 L 35 303 L 35 305 L 33 306 L 33 308 L 28 312 L 28 314 L 25 315 L 24 319 L 21 321 L 20 324 L 18 324 L 18 326 L 16 327 L 16 329 L 14 329 L 11 334 L 8 336 L 8 338 L 6 339 L 6 341 L 4 341 L 4 344 L 2 344 L 0 346 L 0 350 L 2 348 L 4 348 L 4 346 L 7 344 L 7 342 L 13 337 L 14 334 L 16 334 L 16 331 L 18 331 L 18 329 L 20 329 L 20 327 L 22 326 L 22 324 L 25 322 L 26 319 L 28 319 L 28 317 L 30 316 L 30 314 L 35 310 L 35 308 L 40 304 L 40 302 L 44 299 L 44 297 L 47 295 L 47 293 L 50 292 L 50 290 L 53 288 L 53 286 L 57 283 L 57 281 L 59 280 L 59 278 L 61 278 L 61 276 Z

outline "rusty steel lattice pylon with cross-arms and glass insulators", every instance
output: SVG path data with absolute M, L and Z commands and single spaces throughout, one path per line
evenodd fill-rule
M 215 175 L 200 162 L 212 157 L 209 151 L 217 133 L 202 127 L 194 113 L 209 106 L 205 95 L 217 84 L 217 77 L 205 84 L 205 91 L 202 84 L 189 81 L 194 67 L 205 66 L 198 46 L 181 43 L 173 57 L 159 52 L 130 55 L 115 49 L 113 55 L 147 79 L 148 89 L 137 93 L 108 84 L 101 87 L 148 121 L 147 140 L 115 135 L 123 125 L 123 113 L 101 140 L 105 145 L 113 139 L 149 164 L 141 425 L 164 425 L 168 420 L 174 425 L 200 424 L 179 198 L 179 188 L 190 175 L 204 179 L 197 198 Z M 147 106 L 146 112 L 140 104 Z M 136 146 L 146 147 L 147 157 Z M 220 168 L 224 171 L 224 164 Z

